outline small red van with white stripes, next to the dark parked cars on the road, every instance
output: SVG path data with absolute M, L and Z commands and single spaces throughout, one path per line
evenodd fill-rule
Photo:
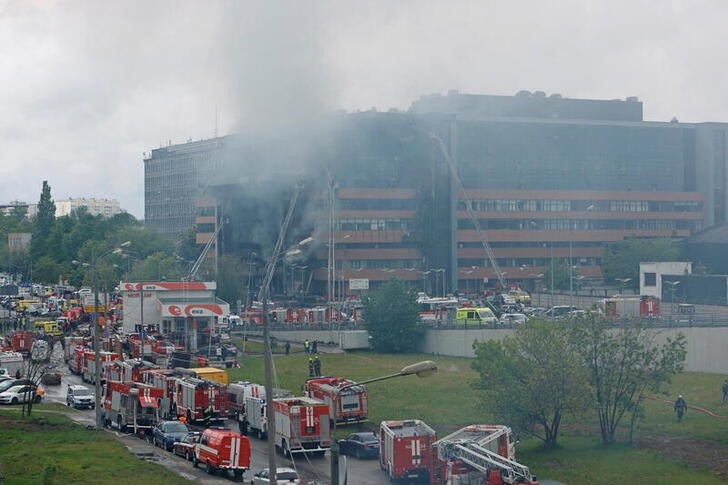
M 224 428 L 208 428 L 195 443 L 192 465 L 204 464 L 207 473 L 232 470 L 236 480 L 250 469 L 250 440 Z

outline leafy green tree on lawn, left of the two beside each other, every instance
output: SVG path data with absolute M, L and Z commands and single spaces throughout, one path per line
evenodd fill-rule
M 482 405 L 521 433 L 556 444 L 562 419 L 589 404 L 589 381 L 563 323 L 532 321 L 502 341 L 476 342 Z

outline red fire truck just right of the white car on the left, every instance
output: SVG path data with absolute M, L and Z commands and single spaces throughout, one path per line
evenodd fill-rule
M 104 390 L 105 426 L 136 434 L 150 430 L 159 422 L 162 389 L 139 382 L 109 381 Z

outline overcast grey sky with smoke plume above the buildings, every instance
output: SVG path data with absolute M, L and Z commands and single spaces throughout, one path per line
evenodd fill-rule
M 728 121 L 725 0 L 0 0 L 0 203 L 116 198 L 142 154 L 422 94 L 638 96 Z M 217 113 L 217 116 L 216 116 Z

